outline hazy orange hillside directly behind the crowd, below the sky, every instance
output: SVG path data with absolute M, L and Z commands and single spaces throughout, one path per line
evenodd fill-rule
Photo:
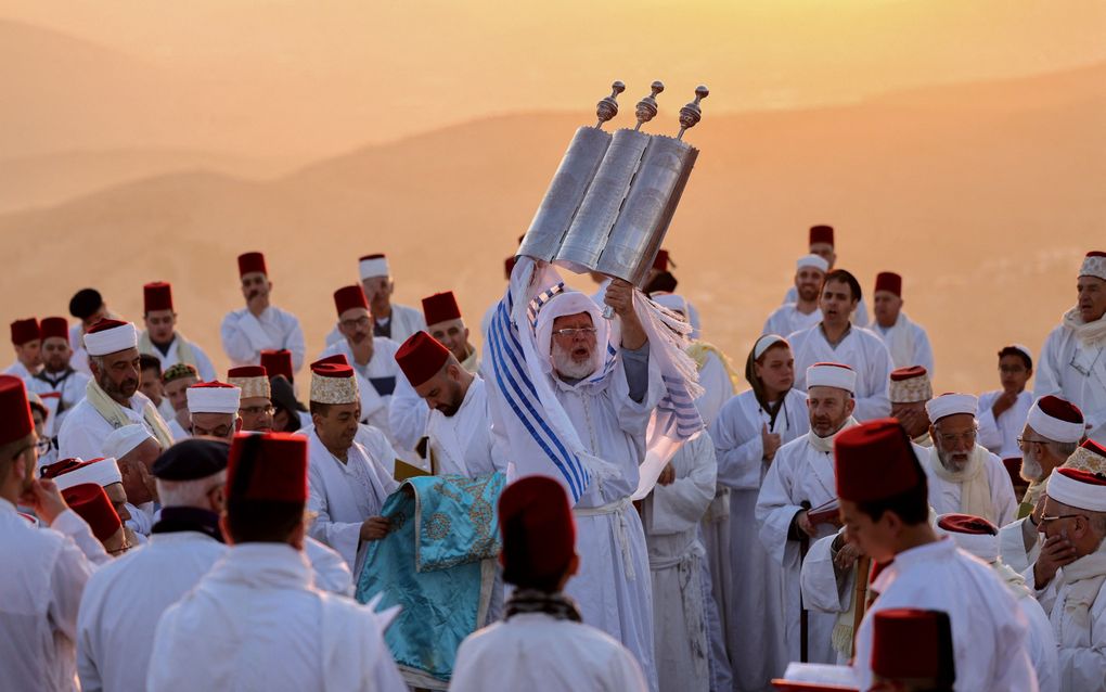
M 879 270 L 906 277 L 906 310 L 937 352 L 937 388 L 995 386 L 997 350 L 1037 351 L 1074 300 L 1083 252 L 1104 245 L 1103 78 L 1095 65 L 740 115 L 706 102 L 686 137 L 701 155 L 666 244 L 705 335 L 742 362 L 806 227 L 832 223 L 839 265 L 866 291 Z M 618 125 L 632 122 L 624 109 Z M 671 115 L 648 131 L 674 132 Z M 137 317 L 140 285 L 166 279 L 181 330 L 221 355 L 219 320 L 241 304 L 234 256 L 263 249 L 275 301 L 300 316 L 315 353 L 334 321 L 331 292 L 356 280 L 358 255 L 387 251 L 400 302 L 452 288 L 476 331 L 503 289 L 503 257 L 574 128 L 591 122 L 487 118 L 267 182 L 160 175 L 0 216 L 0 314 L 58 313 L 94 285 Z

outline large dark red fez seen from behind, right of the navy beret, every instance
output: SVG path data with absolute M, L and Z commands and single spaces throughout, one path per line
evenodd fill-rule
M 307 438 L 293 433 L 236 434 L 227 459 L 227 500 L 243 499 L 306 503 Z

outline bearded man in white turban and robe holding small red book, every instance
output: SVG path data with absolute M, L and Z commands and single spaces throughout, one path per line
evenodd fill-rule
M 779 448 L 757 502 L 761 543 L 784 571 L 784 641 L 792 661 L 833 663 L 836 617 L 803 613 L 800 571 L 807 546 L 837 531 L 833 441 L 856 425 L 856 372 L 839 363 L 816 363 L 806 371 L 811 430 Z M 776 675 L 783 673 L 778 671 Z

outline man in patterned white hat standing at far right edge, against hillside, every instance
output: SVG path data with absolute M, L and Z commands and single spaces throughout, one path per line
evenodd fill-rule
M 1088 436 L 1106 443 L 1106 252 L 1087 252 L 1076 290 L 1076 306 L 1041 349 L 1033 393 L 1056 394 L 1078 406 Z

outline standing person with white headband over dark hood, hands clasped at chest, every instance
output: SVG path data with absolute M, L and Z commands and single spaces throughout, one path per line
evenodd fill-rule
M 721 606 L 734 690 L 742 691 L 765 689 L 789 662 L 783 574 L 757 537 L 754 510 L 776 450 L 810 428 L 806 395 L 792 388 L 794 358 L 786 339 L 758 339 L 745 361 L 745 379 L 752 389 L 727 402 L 710 428 L 718 483 L 730 488 L 730 564 L 723 567 L 730 579 L 720 585 Z

